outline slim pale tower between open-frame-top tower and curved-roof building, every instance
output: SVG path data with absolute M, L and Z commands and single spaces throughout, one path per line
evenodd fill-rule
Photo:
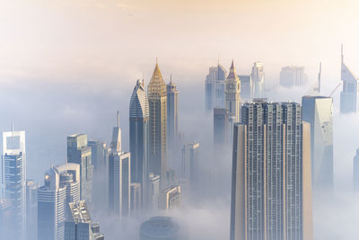
M 38 191 L 39 184 L 26 181 L 26 239 L 38 239 Z

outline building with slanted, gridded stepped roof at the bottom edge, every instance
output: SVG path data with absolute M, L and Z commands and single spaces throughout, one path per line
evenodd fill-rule
M 71 218 L 65 223 L 65 240 L 104 240 L 100 224 L 92 223 L 84 200 L 69 203 Z

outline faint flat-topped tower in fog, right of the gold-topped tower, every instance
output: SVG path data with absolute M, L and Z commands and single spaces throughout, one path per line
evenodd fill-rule
M 199 173 L 199 143 L 192 142 L 183 145 L 180 177 L 187 180 L 192 187 L 197 184 Z

